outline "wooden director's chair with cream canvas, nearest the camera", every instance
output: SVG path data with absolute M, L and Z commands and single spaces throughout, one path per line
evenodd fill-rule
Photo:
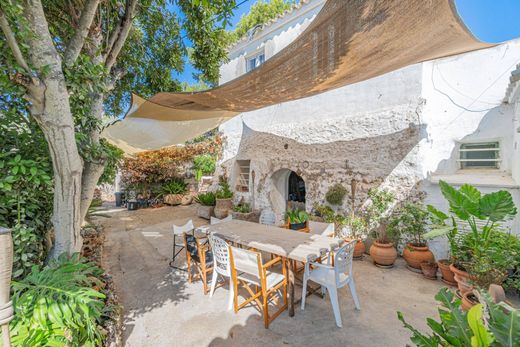
M 234 304 L 235 313 L 239 309 L 255 301 L 264 315 L 264 326 L 267 329 L 269 324 L 280 313 L 287 309 L 287 268 L 285 266 L 285 259 L 276 257 L 275 259 L 263 264 L 262 254 L 246 249 L 229 246 L 229 257 L 231 260 L 231 274 L 233 276 L 234 288 Z M 282 265 L 282 273 L 269 270 L 273 265 L 280 263 Z M 246 299 L 241 304 L 238 303 L 238 284 L 239 282 L 251 294 L 251 297 Z M 256 292 L 253 291 L 249 285 L 258 288 Z M 270 298 L 277 293 L 282 292 L 283 303 L 280 305 L 278 311 L 269 314 Z M 260 302 L 262 297 L 262 302 Z

